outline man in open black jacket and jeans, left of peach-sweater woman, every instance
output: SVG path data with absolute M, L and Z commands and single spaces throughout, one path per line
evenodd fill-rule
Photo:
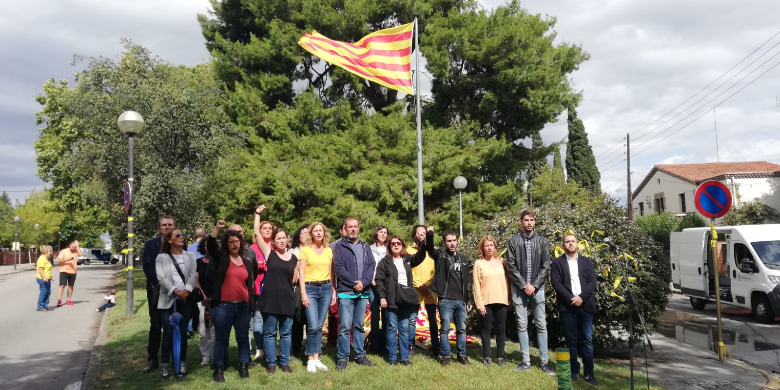
M 438 296 L 441 328 L 441 365 L 449 366 L 452 352 L 449 347 L 449 328 L 455 319 L 457 335 L 458 363 L 470 365 L 466 356 L 466 313 L 471 310 L 471 269 L 469 259 L 456 252 L 458 236 L 452 230 L 444 232 L 444 248 L 434 248 L 434 228 L 429 227 L 423 247 L 428 256 L 434 259 L 434 279 L 430 291 Z M 431 321 L 436 321 L 431 319 Z

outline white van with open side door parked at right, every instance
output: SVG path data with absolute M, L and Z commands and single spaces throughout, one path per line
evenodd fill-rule
M 718 259 L 713 261 L 711 229 L 672 232 L 672 285 L 694 309 L 715 301 L 715 275 L 721 303 L 753 310 L 762 322 L 780 315 L 780 225 L 722 226 Z

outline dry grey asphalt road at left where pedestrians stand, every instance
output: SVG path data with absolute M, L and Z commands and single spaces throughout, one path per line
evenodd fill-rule
M 58 267 L 54 268 L 58 281 Z M 104 313 L 95 308 L 105 301 L 119 265 L 78 266 L 73 306 L 56 307 L 52 285 L 51 309 L 36 311 L 38 285 L 34 271 L 0 275 L 0 388 L 3 390 L 62 390 L 81 381 Z M 54 284 L 54 283 L 53 283 Z M 66 300 L 66 293 L 62 297 Z

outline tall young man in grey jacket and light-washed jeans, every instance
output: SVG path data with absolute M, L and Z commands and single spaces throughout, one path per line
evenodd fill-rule
M 523 230 L 509 239 L 507 250 L 509 274 L 512 275 L 512 303 L 517 321 L 517 338 L 520 341 L 520 353 L 523 362 L 515 370 L 530 370 L 528 346 L 528 307 L 534 313 L 534 324 L 539 343 L 541 370 L 555 375 L 548 364 L 547 350 L 547 314 L 544 310 L 544 281 L 550 273 L 550 252 L 547 239 L 534 232 L 536 220 L 534 211 L 523 210 L 520 213 L 520 225 Z

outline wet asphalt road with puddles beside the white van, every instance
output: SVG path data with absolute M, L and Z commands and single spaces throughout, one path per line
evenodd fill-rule
M 762 324 L 753 318 L 750 310 L 727 306 L 722 313 L 726 356 L 780 373 L 780 321 Z M 674 294 L 669 300 L 669 310 L 658 319 L 664 324 L 661 334 L 700 349 L 716 350 L 718 321 L 714 303 L 708 303 L 704 310 L 694 310 L 688 297 Z

